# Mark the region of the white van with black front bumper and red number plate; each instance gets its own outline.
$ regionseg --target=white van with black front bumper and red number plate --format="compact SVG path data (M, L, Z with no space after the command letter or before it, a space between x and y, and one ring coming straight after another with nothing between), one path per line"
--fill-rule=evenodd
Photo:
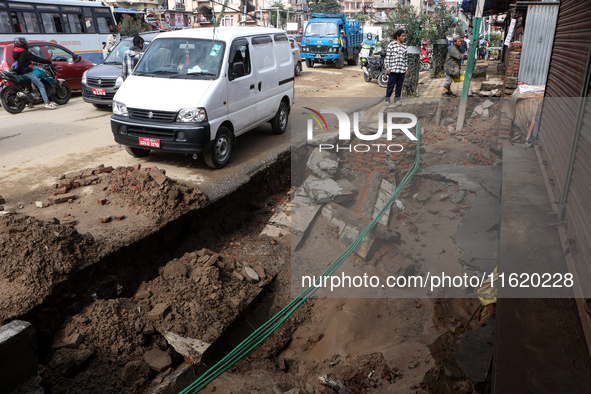
M163 33L113 98L111 131L132 156L150 150L204 153L210 167L222 168L240 134L265 122L275 134L285 132L293 70L282 30Z

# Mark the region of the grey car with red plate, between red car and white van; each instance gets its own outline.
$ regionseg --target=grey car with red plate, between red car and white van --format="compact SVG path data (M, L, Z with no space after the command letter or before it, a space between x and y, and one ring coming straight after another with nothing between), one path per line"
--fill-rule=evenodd
M144 50L160 32L141 33ZM96 108L107 108L123 83L121 68L123 54L133 46L133 37L121 40L102 62L88 70L82 76L82 99Z

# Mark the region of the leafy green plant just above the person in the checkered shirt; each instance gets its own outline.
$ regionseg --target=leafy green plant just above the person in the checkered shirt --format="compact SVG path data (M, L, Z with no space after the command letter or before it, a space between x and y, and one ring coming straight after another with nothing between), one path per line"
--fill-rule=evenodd
M406 31L406 45L420 46L425 38L425 24L427 16L417 14L413 6L404 6L402 2L396 8L386 10L385 37L389 37L398 29Z

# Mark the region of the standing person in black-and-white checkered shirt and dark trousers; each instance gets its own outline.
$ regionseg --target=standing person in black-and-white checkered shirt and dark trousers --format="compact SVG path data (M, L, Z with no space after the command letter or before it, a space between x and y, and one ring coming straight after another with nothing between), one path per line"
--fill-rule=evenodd
M392 38L393 40L388 44L386 59L384 61L386 74L388 74L385 105L390 105L390 97L392 96L392 91L394 91L394 86L396 86L394 105L399 104L404 76L408 74L406 44L404 43L406 41L406 33L404 30L399 29L394 33Z

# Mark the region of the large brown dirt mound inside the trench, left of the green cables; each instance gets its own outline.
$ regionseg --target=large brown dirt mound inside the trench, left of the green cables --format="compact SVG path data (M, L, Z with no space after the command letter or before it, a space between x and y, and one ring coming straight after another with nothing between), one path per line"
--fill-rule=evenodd
M99 299L69 318L54 338L55 351L43 375L51 392L142 392L183 358L199 361L178 354L165 336L172 332L207 344L222 336L276 274L262 265L271 267L268 263L275 263L277 254L289 254L278 243L249 246L262 252L256 259L260 265L235 260L229 251L186 253L143 283L133 298ZM246 266L257 272L259 281L245 279ZM168 361L155 363L149 355L154 351Z

